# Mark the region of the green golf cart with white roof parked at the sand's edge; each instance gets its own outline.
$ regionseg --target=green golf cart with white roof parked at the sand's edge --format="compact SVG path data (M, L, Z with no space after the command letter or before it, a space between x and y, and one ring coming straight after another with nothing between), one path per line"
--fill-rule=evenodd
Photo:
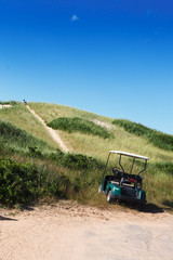
M117 154L119 155L119 167L114 167L111 169L111 176L105 177L110 155ZM121 165L122 156L133 158L129 173L124 171L124 168ZM137 174L133 174L132 170L134 169L136 159L144 160L144 169L142 169ZM141 173L146 169L148 159L148 157L141 155L130 154L121 151L110 151L103 173L103 182L99 185L98 192L105 193L108 203L111 203L115 199L120 199L145 204L146 192L142 190L142 182L144 178L141 176Z

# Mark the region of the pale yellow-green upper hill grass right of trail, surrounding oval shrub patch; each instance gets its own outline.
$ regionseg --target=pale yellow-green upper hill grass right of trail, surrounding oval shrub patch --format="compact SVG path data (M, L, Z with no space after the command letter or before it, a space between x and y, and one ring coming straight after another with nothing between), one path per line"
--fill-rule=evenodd
M159 150L148 142L148 140L129 133L120 126L112 125L114 119L111 118L56 104L29 103L29 105L46 122L58 117L81 117L89 120L96 119L109 126L109 131L115 136L110 140L103 140L98 136L90 136L84 133L58 131L71 152L91 155L105 160L108 151L121 150L146 155L154 162L173 160L173 153L171 151Z

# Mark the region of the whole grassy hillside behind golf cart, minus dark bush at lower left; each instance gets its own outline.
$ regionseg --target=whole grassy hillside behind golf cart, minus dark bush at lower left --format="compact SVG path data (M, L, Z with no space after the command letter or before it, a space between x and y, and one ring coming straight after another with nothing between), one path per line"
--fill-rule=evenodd
M169 209L173 207L172 135L147 128L148 134L157 135L156 142L152 142L149 135L136 134L137 123L133 123L131 131L128 131L121 119L116 122L115 118L56 104L28 105L44 123L54 128L69 153L66 155L64 151L61 152L61 146L41 122L27 107L16 103L0 109L1 154L16 164L35 164L38 174L44 172L42 196L43 190L46 190L46 196L53 191L55 197L104 204L105 197L97 194L103 172L101 169L108 152L119 150L149 157L144 174L147 200ZM2 131L4 128L9 130ZM141 128L145 129L144 126ZM157 145L164 140L169 140L169 146Z

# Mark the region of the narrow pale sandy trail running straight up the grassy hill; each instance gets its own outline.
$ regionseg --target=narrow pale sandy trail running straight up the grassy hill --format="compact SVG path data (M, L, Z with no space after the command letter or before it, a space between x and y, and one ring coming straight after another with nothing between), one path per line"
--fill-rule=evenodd
M36 113L35 113L35 110L32 110L28 105L26 106L28 109L29 109L29 112L41 122L41 125L45 128L45 130L50 133L50 135L51 135L51 138L59 145L59 147L64 151L64 152L69 152L69 150L67 148L67 146L64 144L64 142L62 141L62 139L61 139L61 136L58 135L58 133L54 130L54 129L52 129L52 128L50 128L50 127L48 127L46 125L45 125L45 122L42 120L42 118L41 117L39 117Z

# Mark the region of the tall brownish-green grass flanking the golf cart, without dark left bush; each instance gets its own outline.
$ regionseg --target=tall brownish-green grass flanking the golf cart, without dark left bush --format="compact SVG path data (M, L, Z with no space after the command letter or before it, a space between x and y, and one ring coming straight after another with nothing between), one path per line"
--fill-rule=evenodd
M54 198L55 200L64 198L74 199L82 204L104 205L106 197L97 194L97 188L102 181L103 165L94 164L94 168L92 165L88 167L88 162L84 165L83 162L79 162L81 156L78 157L69 154L69 159L66 159L66 156L67 155L63 154L63 159L61 160L55 158L18 158L16 156L13 156L13 159L22 162L23 167L25 165L27 166L29 161L32 167L35 165L37 178L40 176L43 178L39 198ZM84 157L83 159L85 160ZM27 164L25 161L27 161ZM111 164L114 164L114 161L111 161ZM129 164L130 161L125 162L127 168ZM171 162L148 165L144 173L144 188L147 192L147 200L149 204L155 204L164 209L172 209L171 206L168 206L172 205L173 202L172 169L173 164ZM136 170L141 170L141 165L136 166ZM38 186L35 187L36 191L37 188ZM34 202L36 199L37 196L35 196Z

